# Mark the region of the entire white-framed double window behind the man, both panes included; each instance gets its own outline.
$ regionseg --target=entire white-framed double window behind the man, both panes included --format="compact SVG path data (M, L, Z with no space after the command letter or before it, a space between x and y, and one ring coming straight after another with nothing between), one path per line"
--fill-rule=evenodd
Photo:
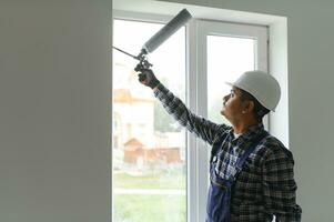
M163 26L150 16L115 14L113 46L132 54ZM266 36L265 27L194 20L149 60L192 111L227 123L220 115L230 90L224 81L246 70L266 71ZM205 221L210 150L175 124L138 82L135 64L113 51L113 221Z

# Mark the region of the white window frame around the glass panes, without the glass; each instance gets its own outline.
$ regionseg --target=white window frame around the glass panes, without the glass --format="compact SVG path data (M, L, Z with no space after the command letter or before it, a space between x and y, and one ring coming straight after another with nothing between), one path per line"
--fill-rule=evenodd
M166 23L172 17L113 10L113 19ZM186 24L186 101L195 113L208 117L206 36L256 38L256 69L267 71L267 28L264 26L229 23L192 19ZM205 43L204 43L205 42ZM144 42L143 42L144 43ZM267 120L265 125L267 128ZM188 221L202 222L206 215L210 148L192 134L186 135ZM191 151L190 151L190 149Z

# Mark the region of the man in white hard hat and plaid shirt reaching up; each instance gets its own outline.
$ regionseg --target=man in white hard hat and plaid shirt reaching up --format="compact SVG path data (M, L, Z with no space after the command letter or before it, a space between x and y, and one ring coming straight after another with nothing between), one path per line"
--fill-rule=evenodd
M206 222L270 222L273 216L276 222L301 221L293 155L262 123L281 97L272 75L250 71L229 83L232 90L221 111L232 124L227 127L192 113L152 70L135 70L181 125L212 145Z

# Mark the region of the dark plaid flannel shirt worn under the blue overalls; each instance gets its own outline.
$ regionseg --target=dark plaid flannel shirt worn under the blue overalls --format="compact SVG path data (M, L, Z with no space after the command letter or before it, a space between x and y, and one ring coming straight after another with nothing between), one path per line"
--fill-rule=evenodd
M237 158L264 131L263 124L259 123L235 139L231 127L195 115L163 84L154 90L154 97L181 125L214 148L215 170L225 179L235 171L233 165ZM292 153L276 138L265 137L235 178L231 221L267 222L273 215L276 222L301 221L302 209L295 202L293 167Z

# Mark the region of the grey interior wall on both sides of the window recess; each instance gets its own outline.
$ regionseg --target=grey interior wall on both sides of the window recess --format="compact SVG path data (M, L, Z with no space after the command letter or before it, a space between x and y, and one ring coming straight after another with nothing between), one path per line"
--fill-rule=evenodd
M287 17L298 202L303 221L333 221L334 2L178 1ZM110 221L110 9L1 0L0 221Z

